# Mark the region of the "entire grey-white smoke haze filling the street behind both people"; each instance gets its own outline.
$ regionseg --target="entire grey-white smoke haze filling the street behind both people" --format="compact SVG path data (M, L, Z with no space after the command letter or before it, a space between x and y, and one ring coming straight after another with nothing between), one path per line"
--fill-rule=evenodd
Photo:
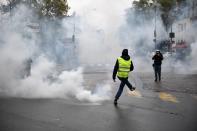
M95 90L83 86L83 69L80 65L109 64L112 70L123 48L129 49L136 72L153 70L151 52L154 48L154 20L144 21L140 26L131 22L135 17L132 11L128 11L130 2L126 0L84 0L80 1L80 4L78 2L79 0L73 0L70 5L76 11L75 20L37 21L35 14L25 6L19 6L11 18L9 15L0 16L1 93L25 98L72 96L90 102L109 100L109 83L101 83L91 88ZM35 32L27 32L29 16L42 25L44 34L41 38ZM72 36L73 27L70 23L75 23L76 26L78 47L75 54L69 53L69 49L73 48L65 48L63 40L65 36ZM61 30L55 30L57 24L61 26ZM168 36L159 17L157 28L158 38ZM44 42L41 42L41 39ZM184 64L166 58L163 62L164 71L191 73L196 70L196 49L194 42L191 55ZM69 65L75 65L70 71L56 71L57 64L68 66L66 61L73 55L76 55L80 64ZM19 74L23 62L30 57L33 59L31 76L21 79ZM53 78L55 80L51 80Z

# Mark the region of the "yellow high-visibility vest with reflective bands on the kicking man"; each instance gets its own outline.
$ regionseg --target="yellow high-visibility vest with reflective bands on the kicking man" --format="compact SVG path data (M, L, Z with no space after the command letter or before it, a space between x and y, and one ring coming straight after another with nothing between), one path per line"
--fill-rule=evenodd
M122 57L118 57L118 74L120 78L127 78L129 76L130 67L131 67L131 58L129 60L124 60Z

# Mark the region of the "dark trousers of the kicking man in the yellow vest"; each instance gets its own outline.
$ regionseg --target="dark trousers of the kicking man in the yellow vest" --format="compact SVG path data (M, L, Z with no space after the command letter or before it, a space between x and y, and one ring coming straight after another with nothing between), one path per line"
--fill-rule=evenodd
M119 87L119 89L118 89L118 92L116 93L116 96L115 96L115 99L116 99L116 100L118 100L119 97L121 96L125 84L128 86L128 88L129 88L130 90L132 89L132 85L131 85L131 83L128 81L128 78L120 78L120 77L118 77L118 79L121 81L121 83L120 83L120 87Z

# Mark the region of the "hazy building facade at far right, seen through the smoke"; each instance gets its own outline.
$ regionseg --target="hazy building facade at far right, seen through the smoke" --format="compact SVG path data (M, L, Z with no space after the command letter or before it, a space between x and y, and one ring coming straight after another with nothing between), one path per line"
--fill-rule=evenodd
M175 32L172 50L186 55L190 52L190 45L196 42L197 1L188 0L184 5L177 5L177 19L173 23Z

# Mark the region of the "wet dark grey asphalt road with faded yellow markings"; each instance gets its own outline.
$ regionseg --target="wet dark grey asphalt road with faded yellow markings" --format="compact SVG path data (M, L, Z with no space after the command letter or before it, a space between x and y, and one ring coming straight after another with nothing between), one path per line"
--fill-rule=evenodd
M108 82L111 74L86 72L85 85ZM197 131L197 75L134 73L135 92L126 88L118 106L72 99L0 98L0 131Z

